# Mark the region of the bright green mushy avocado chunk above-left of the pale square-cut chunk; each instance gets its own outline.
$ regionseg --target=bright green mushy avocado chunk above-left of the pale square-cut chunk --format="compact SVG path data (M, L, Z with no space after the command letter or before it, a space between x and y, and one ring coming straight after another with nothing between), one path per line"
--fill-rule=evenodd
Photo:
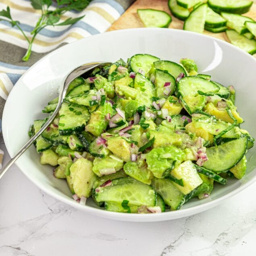
M162 178L165 171L171 170L174 164L179 165L183 160L185 160L183 150L173 146L154 148L146 154L148 169L156 178Z

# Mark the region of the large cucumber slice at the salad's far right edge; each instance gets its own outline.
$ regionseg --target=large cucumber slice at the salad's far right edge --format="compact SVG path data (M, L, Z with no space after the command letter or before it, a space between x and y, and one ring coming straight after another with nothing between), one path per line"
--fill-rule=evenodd
M206 148L208 161L203 167L216 173L223 173L234 167L247 150L247 137L234 139L219 146Z

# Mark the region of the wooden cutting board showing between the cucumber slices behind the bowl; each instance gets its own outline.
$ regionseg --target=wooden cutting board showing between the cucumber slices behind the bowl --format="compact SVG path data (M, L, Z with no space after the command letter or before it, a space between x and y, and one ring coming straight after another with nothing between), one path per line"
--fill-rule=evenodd
M171 15L171 12L168 8L167 3L168 3L168 0L137 0L130 6L130 8L126 10L126 12L116 22L112 24L112 26L108 29L108 31L117 30L117 29L135 28L135 27L144 27L142 21L140 21L137 15L137 9L139 8L142 8L142 9L153 8L157 10L164 10ZM252 5L250 12L247 12L244 15L256 21L256 0L254 0L254 4ZM169 25L169 28L183 29L184 22L173 17L173 15L171 16L172 16L172 22ZM211 35L215 38L219 38L221 40L229 42L225 32L212 33L205 30L204 34ZM256 56L256 54L254 54L254 56Z

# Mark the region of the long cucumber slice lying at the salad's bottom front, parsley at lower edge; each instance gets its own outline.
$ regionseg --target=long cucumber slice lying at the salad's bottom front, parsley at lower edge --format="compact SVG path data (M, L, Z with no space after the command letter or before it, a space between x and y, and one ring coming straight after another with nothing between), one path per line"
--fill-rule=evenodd
M97 202L117 202L129 201L132 205L156 205L156 192L153 187L136 181L131 177L114 179L107 187L97 187L95 189L95 199Z

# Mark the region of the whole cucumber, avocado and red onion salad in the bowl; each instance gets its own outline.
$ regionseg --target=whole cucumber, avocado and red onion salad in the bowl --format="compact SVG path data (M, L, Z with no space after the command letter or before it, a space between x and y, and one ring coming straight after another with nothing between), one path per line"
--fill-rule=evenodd
M158 213L245 175L254 138L241 123L232 85L198 74L187 58L135 54L74 79L35 147L80 204L92 197L108 211Z

